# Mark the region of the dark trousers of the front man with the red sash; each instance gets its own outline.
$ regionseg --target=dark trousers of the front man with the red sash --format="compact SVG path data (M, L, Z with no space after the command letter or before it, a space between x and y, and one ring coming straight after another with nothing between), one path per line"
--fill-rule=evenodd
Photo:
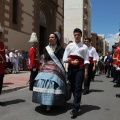
M73 109L80 109L80 102L82 97L82 84L84 79L84 66L82 67L68 67L68 80L71 84L71 89L73 92Z

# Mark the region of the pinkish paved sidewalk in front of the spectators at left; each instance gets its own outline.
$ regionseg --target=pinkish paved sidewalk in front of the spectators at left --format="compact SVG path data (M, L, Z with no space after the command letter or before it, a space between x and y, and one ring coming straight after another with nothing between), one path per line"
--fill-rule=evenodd
M29 77L30 71L20 71L18 74L5 74L2 93L27 87Z

